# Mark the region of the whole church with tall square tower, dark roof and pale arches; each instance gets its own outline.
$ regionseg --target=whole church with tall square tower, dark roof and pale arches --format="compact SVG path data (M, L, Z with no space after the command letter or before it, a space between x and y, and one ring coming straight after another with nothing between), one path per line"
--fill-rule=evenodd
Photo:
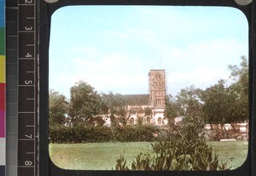
M166 108L165 70L150 70L148 72L148 94L125 94L122 97L128 112L127 125L141 123L162 126L168 123L164 116ZM110 126L110 118L104 119L106 125Z

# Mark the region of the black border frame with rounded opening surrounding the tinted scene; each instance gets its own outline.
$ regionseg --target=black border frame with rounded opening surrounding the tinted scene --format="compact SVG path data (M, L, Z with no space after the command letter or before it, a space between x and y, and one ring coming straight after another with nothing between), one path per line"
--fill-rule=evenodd
M38 174L40 176L253 176L256 175L256 0L247 6L241 6L234 0L59 0L58 3L38 1L38 114L39 114L39 154ZM164 6L216 6L240 9L246 16L249 25L249 145L247 161L231 171L81 171L66 170L56 167L49 158L48 141L48 92L49 92L49 33L51 14L56 9L69 5L164 5Z

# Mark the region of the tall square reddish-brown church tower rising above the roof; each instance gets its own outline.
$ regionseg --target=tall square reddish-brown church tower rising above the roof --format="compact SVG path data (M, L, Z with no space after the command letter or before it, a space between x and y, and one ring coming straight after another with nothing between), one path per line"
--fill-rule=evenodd
M150 70L148 73L149 103L155 109L166 108L165 70Z

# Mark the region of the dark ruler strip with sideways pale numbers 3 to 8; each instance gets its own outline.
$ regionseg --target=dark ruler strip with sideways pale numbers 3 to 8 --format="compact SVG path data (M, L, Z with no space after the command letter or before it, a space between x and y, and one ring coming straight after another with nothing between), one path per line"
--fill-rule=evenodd
M18 176L38 175L37 4L18 2Z

